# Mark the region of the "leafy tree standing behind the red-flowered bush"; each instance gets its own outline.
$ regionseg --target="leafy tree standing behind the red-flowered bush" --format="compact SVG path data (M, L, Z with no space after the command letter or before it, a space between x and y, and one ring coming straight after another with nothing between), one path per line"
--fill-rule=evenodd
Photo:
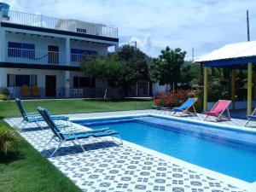
M150 75L153 81L161 81L168 85L168 90L172 84L177 85L181 81L181 67L184 63L186 51L182 49L161 50L158 58L154 58L154 65L150 67Z

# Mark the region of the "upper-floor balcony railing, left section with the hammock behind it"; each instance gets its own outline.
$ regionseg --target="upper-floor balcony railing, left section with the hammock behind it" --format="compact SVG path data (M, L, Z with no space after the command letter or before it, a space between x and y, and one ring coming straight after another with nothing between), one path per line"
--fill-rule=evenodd
M66 64L66 53L48 50L8 48L7 61L53 65Z

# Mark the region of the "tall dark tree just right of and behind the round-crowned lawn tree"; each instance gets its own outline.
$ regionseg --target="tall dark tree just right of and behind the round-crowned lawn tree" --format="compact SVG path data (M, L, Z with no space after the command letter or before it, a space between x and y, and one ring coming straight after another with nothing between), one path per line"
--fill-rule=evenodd
M126 66L122 82L124 95L128 94L131 84L136 83L138 80L149 80L148 63L150 58L143 51L131 45L124 45L119 48L117 57Z

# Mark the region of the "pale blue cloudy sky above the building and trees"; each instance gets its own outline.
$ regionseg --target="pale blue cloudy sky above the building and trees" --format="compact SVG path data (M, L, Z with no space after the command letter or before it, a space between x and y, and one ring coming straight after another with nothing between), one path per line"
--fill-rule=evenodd
M256 40L256 0L7 0L10 9L119 29L119 45L137 41L147 55L169 46L186 50L186 60L225 44Z

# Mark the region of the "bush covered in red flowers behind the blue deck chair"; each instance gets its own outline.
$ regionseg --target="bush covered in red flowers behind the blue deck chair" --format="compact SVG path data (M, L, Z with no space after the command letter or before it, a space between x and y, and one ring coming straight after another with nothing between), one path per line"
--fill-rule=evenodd
M180 106L189 97L198 98L198 94L193 90L171 91L167 94L159 94L158 96L155 96L154 104L158 107L175 108ZM197 102L195 102L195 109L197 112L201 112L202 110L200 98L198 98Z

